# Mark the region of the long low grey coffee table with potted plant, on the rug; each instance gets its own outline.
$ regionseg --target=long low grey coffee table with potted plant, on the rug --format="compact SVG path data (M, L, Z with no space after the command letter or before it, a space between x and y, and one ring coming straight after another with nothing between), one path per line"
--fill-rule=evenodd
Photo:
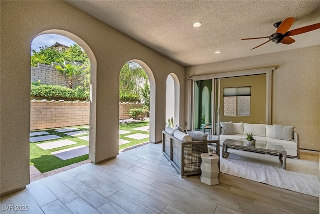
M265 141L258 140L255 141L255 145L246 145L245 141L226 139L222 143L222 157L224 157L228 148L242 149L245 151L254 151L265 154L278 154L279 162L281 163L282 168L285 169L286 151L280 145L266 144Z

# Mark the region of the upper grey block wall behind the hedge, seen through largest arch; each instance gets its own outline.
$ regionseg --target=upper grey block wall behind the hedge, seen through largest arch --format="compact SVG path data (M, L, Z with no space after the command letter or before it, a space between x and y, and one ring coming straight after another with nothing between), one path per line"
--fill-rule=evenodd
M38 67L31 67L31 82L40 80L41 84L59 85L69 87L69 82L65 75L60 74L52 65L38 64ZM73 88L81 85L79 76L73 78Z

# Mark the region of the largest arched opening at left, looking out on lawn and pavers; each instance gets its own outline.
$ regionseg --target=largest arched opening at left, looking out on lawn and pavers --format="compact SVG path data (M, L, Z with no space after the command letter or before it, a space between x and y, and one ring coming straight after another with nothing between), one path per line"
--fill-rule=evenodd
M95 105L96 105L95 104L95 94L96 94L95 93L96 91L95 57L92 51L90 50L90 48L88 47L88 45L83 40L66 31L62 31L62 30L43 31L38 35L36 35L36 37L34 37L33 40L39 36L40 37L46 36L47 34L63 36L65 38L68 38L69 41L73 41L74 44L76 44L74 45L74 47L73 46L68 47L67 45L70 45L70 43L66 45L55 43L50 48L51 50L54 50L55 53L58 53L58 52L64 53L65 48L70 49L71 47L71 49L74 48L74 49L77 49L77 51L81 50L82 52L84 52L88 60L87 60L87 63L81 62L83 66L81 66L81 64L78 64L78 63L67 63L67 62L64 62L61 64L58 64L58 63L52 64L47 66L43 65L43 68L37 67L35 69L32 69L32 66L31 66L31 84L32 82L35 82L33 84L42 85L43 87L45 86L52 91L56 90L55 88L57 87L61 87L61 85L69 86L69 87L64 87L65 88L65 91L63 89L64 94L73 90L71 92L71 94L73 94L72 96L70 94L66 96L66 97L70 96L69 99L67 99L66 97L57 99L54 97L53 99L45 99L46 101L44 99L42 100L34 99L33 102L31 101L30 129L36 130L36 131L32 131L30 133L30 144L31 144L30 145L30 163L33 163L36 168L41 167L41 170L38 168L40 172L50 171L56 168L60 168L72 163L76 163L76 162L88 159L88 158L91 160L91 159L94 159L94 155L95 155L95 152L93 150L94 144L95 144L94 121L95 121ZM34 47L32 47L32 49L33 48ZM45 49L45 47L43 49ZM71 52L72 51L70 51L70 53ZM75 52L72 52L71 55L74 54ZM83 71L86 68L86 70L89 71L87 73L87 78L89 79L89 82L86 82L87 85L84 86L83 82L78 80L79 76L77 77L77 79L61 78L61 76L64 76L63 74L65 74L65 72L61 71L62 74L60 74L59 76L59 73L57 72L57 68L56 68L58 65L60 65L61 69L65 69L66 67L70 69L73 66L73 72L75 73L78 73L79 71ZM82 67L81 70L79 70L79 67ZM41 71L42 71L42 74L38 75ZM85 87L87 87L86 95L82 96L83 93L85 93L84 92ZM77 94L74 94L74 93L77 93ZM31 94L32 94L32 86L31 86ZM52 94L48 94L46 96L50 97L52 96ZM83 99L81 100L81 98ZM36 104L40 104L40 105L36 106ZM39 108L43 106L45 107L42 109ZM68 112L65 112L66 109L68 110ZM40 115L38 114L39 111L41 111ZM40 123L40 125L37 126L36 124L33 124L32 121L36 121L36 123ZM88 124L90 124L90 126L88 126ZM70 128L71 126L72 128ZM74 126L77 126L77 127L75 128ZM38 130L40 133L36 133L38 132ZM88 135L88 133L90 133L90 135ZM44 140L42 140L41 137L43 137ZM32 151L32 148L36 148L36 149ZM72 150L74 150L73 154L72 154Z

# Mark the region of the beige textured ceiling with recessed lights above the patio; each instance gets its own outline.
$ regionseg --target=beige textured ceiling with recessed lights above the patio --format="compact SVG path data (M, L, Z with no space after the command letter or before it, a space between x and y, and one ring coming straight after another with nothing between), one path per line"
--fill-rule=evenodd
M66 1L181 65L198 65L320 44L320 29L293 36L291 45L268 39L272 25L294 17L290 30L320 23L320 1ZM202 26L193 28L194 22ZM215 51L221 51L215 54Z

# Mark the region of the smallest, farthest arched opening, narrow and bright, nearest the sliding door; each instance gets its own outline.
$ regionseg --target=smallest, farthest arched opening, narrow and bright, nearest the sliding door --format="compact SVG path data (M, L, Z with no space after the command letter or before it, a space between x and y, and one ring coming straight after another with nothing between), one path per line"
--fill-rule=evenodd
M165 90L165 118L173 118L174 125L179 124L179 107L180 107L180 83L177 76L173 73L166 78Z

